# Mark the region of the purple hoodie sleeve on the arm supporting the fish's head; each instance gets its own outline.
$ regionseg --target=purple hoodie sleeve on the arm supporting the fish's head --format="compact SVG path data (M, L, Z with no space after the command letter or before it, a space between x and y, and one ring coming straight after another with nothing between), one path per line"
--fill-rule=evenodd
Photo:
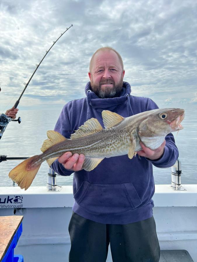
M156 103L148 98L147 105L146 105L146 111L157 109L158 106ZM157 159L157 160L150 160L149 158L146 158L146 160L150 161L155 167L160 168L166 168L166 167L172 167L175 162L177 161L177 158L179 157L179 151L177 146L175 145L175 139L172 133L167 134L165 137L165 147L164 147L164 153L163 155Z

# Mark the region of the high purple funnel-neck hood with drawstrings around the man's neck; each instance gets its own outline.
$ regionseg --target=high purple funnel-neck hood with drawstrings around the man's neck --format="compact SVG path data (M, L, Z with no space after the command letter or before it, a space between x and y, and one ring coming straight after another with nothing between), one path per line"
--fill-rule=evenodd
M124 107L124 116L123 117L128 117L128 116L133 115L133 111L130 105L131 86L128 82L123 82L123 87L122 87L121 94L119 97L99 98L91 90L90 82L86 84L85 93L87 96L87 104L88 104L87 120L91 118L92 110L96 110L98 112L102 112L103 110L117 112L117 111L120 111L119 109L123 107L123 105L125 104L127 104L128 110L125 116L125 107ZM120 112L118 114L120 114Z

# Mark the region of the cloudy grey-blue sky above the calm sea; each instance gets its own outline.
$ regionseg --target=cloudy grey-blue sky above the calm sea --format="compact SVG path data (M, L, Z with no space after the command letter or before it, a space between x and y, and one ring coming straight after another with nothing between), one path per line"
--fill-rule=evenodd
M85 97L89 62L100 47L122 56L131 94L159 107L197 105L197 1L0 1L0 113L39 66L19 109L63 107Z

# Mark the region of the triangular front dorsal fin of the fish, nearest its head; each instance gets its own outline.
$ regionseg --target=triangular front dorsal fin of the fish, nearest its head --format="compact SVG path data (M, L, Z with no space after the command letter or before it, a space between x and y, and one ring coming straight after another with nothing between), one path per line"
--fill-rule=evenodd
M103 118L103 123L106 129L111 128L114 125L119 124L120 122L123 121L124 117L108 111L108 110L103 110L102 111L102 118Z

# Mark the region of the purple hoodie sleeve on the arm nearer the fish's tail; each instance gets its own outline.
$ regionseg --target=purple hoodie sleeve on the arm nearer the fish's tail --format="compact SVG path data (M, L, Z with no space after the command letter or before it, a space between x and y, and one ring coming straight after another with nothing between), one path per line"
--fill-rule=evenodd
M70 138L71 135L71 124L69 115L71 114L72 102L68 102L64 105L60 116L57 120L54 130L62 134L66 138ZM50 166L55 173L61 176L70 176L74 171L65 169L64 166L56 159Z

